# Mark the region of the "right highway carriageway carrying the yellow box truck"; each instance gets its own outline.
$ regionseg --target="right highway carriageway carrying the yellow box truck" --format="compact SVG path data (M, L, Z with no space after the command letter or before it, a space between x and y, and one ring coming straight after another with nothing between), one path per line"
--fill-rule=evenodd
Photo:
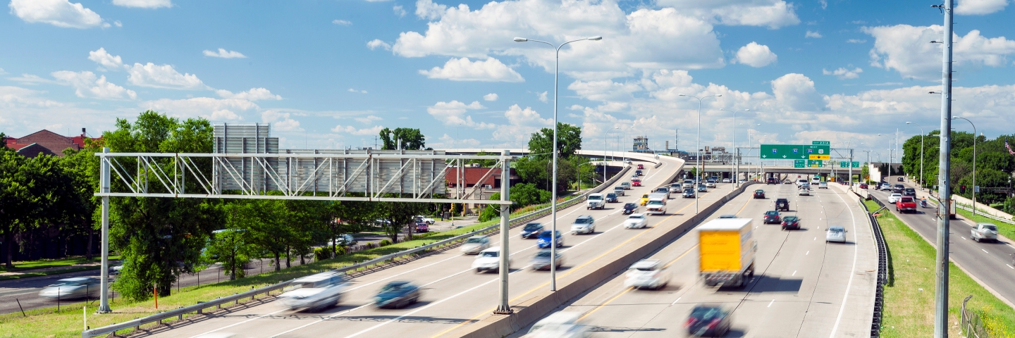
M664 289L625 288L624 274L618 273L562 311L583 313L597 337L686 336L684 321L698 303L733 310L731 337L870 335L877 253L855 195L838 187L815 189L813 196L797 196L795 185L756 187L766 190L766 199L742 194L707 219L722 214L754 219L757 270L746 287L708 287L698 280L697 234L689 231L649 257L667 264L673 276ZM780 197L790 199L791 211L783 215L799 216L801 230L761 222ZM818 241L829 225L847 228L847 244Z

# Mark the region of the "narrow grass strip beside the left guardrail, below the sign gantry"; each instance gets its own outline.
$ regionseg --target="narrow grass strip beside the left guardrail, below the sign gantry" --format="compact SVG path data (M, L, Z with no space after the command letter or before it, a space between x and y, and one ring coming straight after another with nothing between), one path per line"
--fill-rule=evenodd
M334 259L294 266L281 271L265 272L263 274L241 278L238 280L204 284L200 287L184 287L180 292L159 297L158 310L166 311L180 307L192 306L198 301L231 295L233 293L250 290L251 288L267 286L292 278L302 277L315 272L349 266L355 264L356 262L362 262L384 255L394 254L403 250L427 245L433 242L447 240L462 233L496 224L498 222L499 219L493 219L458 229L435 232L434 234L421 240L408 241L387 247L355 252L348 255L342 255ZM110 307L113 308L114 313L92 315L97 309L97 300L93 300L89 301L87 305L88 326L92 328L103 327L114 323L123 323L135 318L141 318L156 313L152 299L132 301L117 297L110 301ZM82 328L81 307L83 306L85 306L83 302L64 305L61 306L59 312L57 312L56 308L29 310L24 312L26 317L22 317L20 312L0 315L0 337L80 337ZM124 334L129 331L131 330L124 330L118 333Z

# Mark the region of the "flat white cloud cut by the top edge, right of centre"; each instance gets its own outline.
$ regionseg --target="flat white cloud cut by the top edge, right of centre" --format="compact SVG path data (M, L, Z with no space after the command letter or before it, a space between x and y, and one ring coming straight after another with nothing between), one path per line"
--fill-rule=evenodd
M718 24L779 28L800 23L793 4L783 0L656 0L656 3Z

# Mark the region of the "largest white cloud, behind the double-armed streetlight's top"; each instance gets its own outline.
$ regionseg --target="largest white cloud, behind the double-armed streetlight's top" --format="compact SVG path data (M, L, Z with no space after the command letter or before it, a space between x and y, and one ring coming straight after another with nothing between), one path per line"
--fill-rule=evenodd
M418 6L420 3L425 6ZM560 58L570 60L561 64L561 71L583 79L603 79L631 75L641 68L725 65L712 24L673 8L644 8L628 14L612 0L505 0L486 3L476 10L464 4L447 8L434 5L434 9L431 4L421 0L417 11L434 21L423 33L400 33L392 47L396 55L474 59L520 56L529 64L552 71L554 56L546 46L512 40L525 37L560 43L601 35L605 37L602 41L582 41L561 49Z

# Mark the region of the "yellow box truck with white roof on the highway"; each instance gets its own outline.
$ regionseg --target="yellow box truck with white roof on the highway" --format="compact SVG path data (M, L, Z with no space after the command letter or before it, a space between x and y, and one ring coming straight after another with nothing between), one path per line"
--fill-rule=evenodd
M754 276L751 218L713 219L698 227L698 267L705 285L743 287Z

